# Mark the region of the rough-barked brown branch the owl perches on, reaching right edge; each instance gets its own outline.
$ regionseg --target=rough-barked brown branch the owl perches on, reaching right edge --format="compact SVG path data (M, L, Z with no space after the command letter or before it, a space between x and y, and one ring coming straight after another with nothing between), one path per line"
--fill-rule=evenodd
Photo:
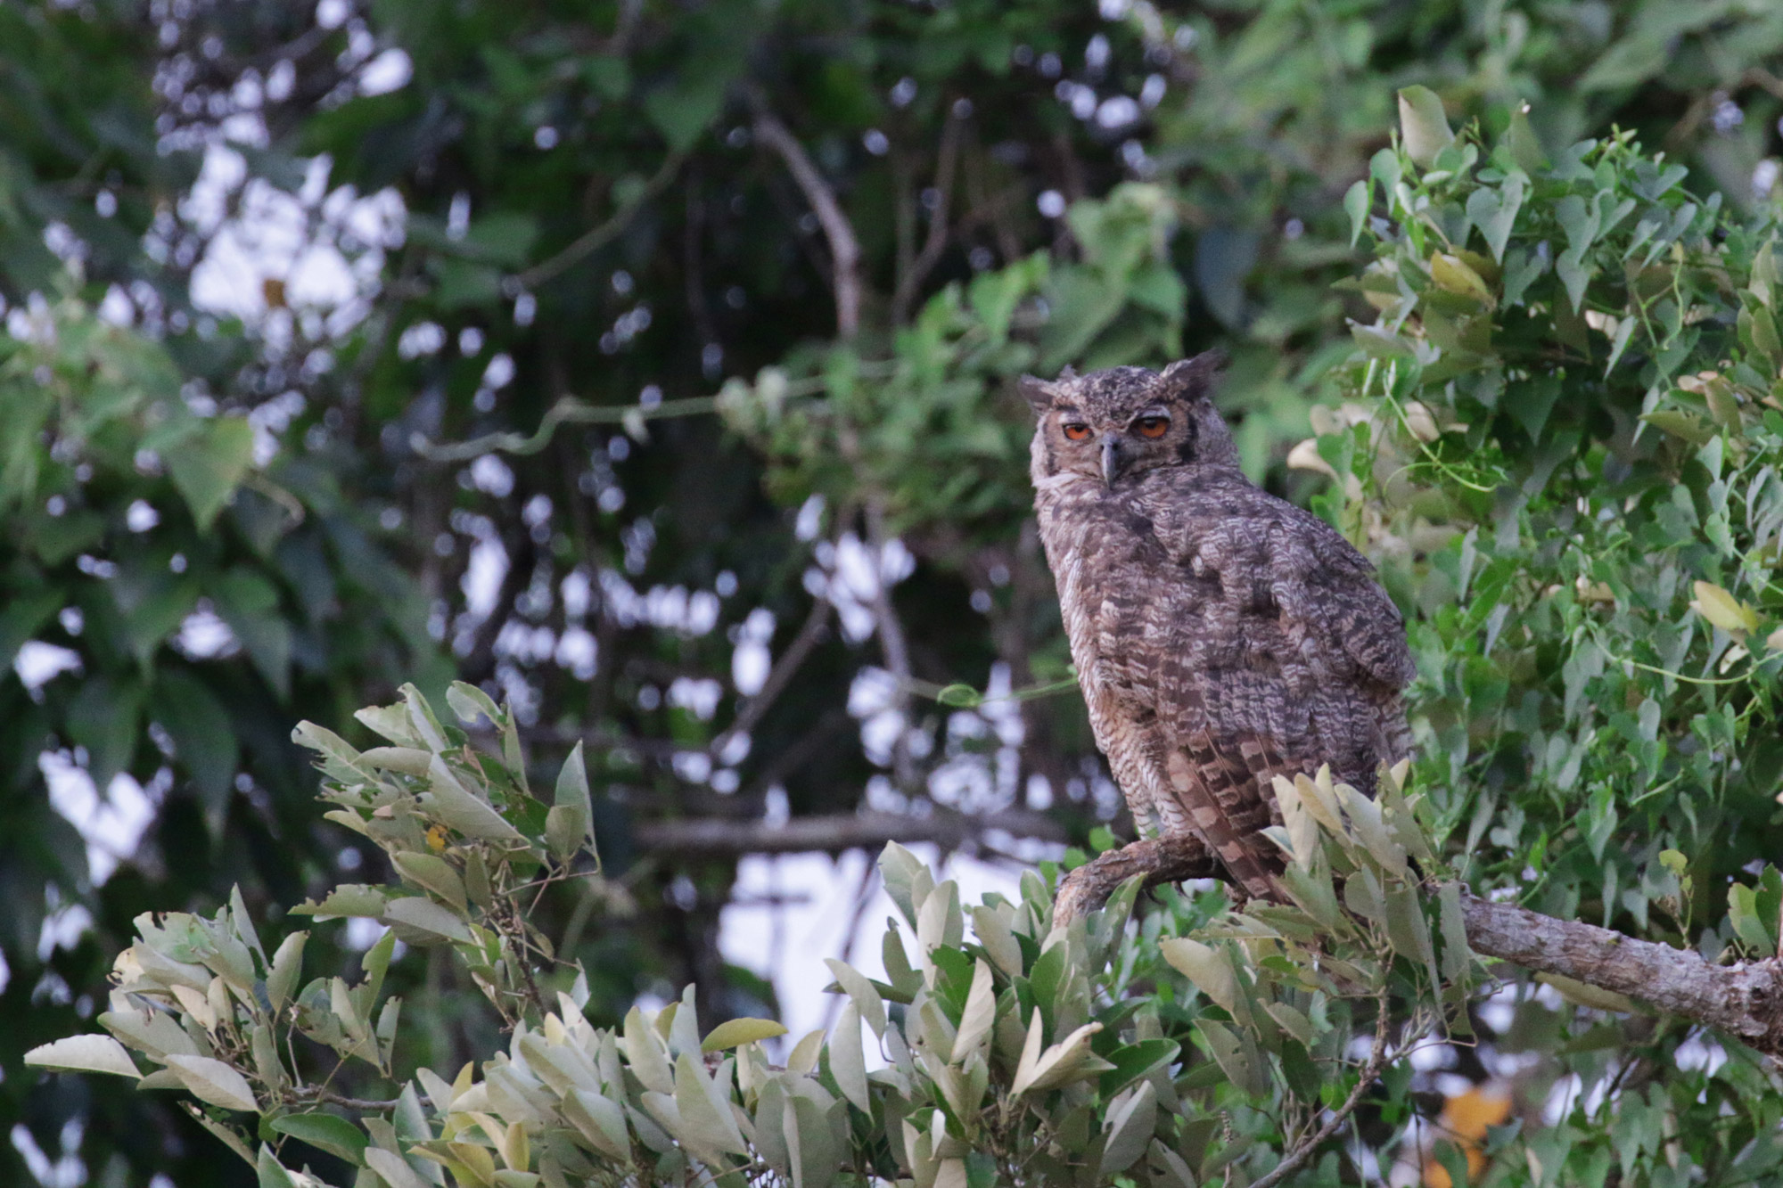
M1066 876L1056 899L1056 919L1100 908L1134 874L1143 874L1145 885L1155 887L1218 876L1218 863L1193 837L1134 842ZM1776 958L1710 965L1694 949L1672 949L1594 924L1558 920L1517 904L1480 899L1467 888L1462 888L1460 904L1467 945L1480 956L1614 990L1726 1031L1762 1052L1783 1056L1783 961Z

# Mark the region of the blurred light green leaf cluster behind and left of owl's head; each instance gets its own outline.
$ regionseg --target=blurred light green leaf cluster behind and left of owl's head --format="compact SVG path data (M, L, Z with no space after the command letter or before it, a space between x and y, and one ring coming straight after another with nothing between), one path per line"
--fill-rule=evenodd
M892 530L934 551L952 533L1004 539L1032 503L1032 419L1015 378L1180 355L1171 223L1159 187L1123 184L1072 209L1082 260L1048 268L1034 255L954 282L899 332L890 359L849 344L801 351L754 385L731 380L720 410L768 458L781 499L877 499Z

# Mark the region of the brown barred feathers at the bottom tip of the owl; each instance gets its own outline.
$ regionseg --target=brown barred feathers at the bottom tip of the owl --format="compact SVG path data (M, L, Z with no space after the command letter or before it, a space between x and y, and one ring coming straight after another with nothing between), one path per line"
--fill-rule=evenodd
M1275 824L1275 776L1291 780L1300 771L1259 735L1216 738L1198 730L1170 753L1170 790L1177 804L1248 895L1287 899L1277 881L1282 853L1262 831Z

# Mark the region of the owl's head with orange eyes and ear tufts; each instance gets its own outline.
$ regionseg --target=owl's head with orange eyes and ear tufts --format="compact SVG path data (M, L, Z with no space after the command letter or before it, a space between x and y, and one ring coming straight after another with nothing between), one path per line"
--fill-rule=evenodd
M1034 407L1036 476L1082 474L1109 489L1166 466L1237 466L1232 433L1214 408L1225 357L1205 351L1159 371L1109 367L1057 380L1022 378Z

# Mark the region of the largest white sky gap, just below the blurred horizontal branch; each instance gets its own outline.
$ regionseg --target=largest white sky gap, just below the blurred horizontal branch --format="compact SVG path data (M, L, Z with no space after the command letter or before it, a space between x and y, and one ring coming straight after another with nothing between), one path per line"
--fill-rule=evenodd
M934 846L911 846L911 851L931 867L938 862ZM840 858L827 854L747 854L736 863L733 899L719 917L719 951L726 961L751 969L774 981L779 997L779 1019L788 1035L777 1040L788 1047L808 1031L829 1026L842 1010L838 995L824 994L831 983L824 958L842 958L849 951L856 895L861 876L872 858L850 851ZM954 854L936 872L938 879L959 883L959 901L968 910L979 904L986 892L1000 892L1020 899L1020 870L977 858ZM859 913L859 931L854 938L854 969L868 978L884 979L884 961L879 938L886 917L897 915L892 897L872 876L870 899ZM765 897L799 899L799 903L751 903ZM915 933L900 920L906 953L915 963ZM865 1033L867 1067L883 1067L884 1056L874 1035Z

